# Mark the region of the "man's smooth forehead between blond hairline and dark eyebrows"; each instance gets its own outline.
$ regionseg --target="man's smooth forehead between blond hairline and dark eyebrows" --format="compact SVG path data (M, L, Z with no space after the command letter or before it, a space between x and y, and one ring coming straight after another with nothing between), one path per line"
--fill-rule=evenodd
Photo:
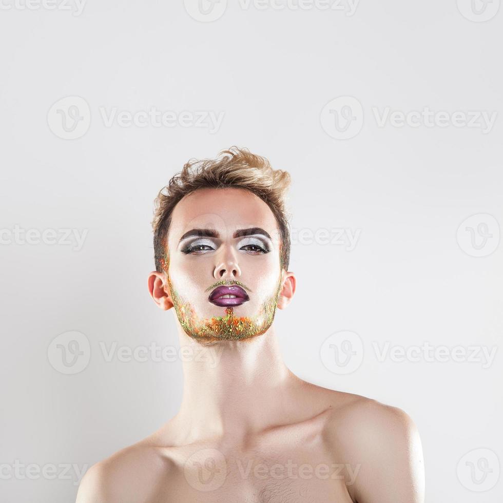
M168 240L178 240L194 228L215 229L231 237L237 229L261 227L279 240L276 218L269 206L249 190L203 188L185 196L173 209Z

